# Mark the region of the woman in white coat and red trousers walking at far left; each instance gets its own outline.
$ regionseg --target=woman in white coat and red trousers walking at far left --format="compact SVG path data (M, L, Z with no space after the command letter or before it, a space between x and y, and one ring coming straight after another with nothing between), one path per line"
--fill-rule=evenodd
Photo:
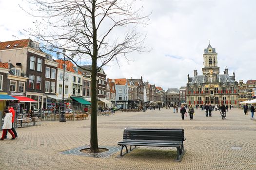
M5 113L5 117L4 117L4 121L3 121L3 126L2 126L2 137L0 138L0 140L3 140L4 136L6 135L6 132L8 130L8 132L13 136L11 139L15 139L15 135L13 133L12 129L12 113L9 112L8 109L4 110Z

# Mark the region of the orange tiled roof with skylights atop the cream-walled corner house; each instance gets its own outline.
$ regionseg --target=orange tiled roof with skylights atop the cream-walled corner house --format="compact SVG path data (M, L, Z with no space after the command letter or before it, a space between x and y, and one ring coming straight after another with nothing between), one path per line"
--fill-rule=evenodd
M0 42L0 50L18 49L29 46L30 39ZM16 46L15 46L16 45Z

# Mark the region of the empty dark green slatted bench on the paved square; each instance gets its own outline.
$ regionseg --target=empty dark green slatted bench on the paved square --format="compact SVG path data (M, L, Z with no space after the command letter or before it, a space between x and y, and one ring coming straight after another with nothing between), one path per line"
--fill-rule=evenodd
M123 141L118 142L121 146L120 156L123 156L122 150L125 147L128 153L127 145L130 146L153 146L153 147L176 147L177 160L181 160L184 154L184 129L145 129L145 128L125 128L123 131ZM126 154L125 153L125 154Z

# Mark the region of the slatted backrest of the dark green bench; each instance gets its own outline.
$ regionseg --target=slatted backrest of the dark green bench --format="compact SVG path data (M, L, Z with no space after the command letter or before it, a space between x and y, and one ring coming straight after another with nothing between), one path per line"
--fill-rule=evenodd
M123 140L184 141L184 129L125 128Z

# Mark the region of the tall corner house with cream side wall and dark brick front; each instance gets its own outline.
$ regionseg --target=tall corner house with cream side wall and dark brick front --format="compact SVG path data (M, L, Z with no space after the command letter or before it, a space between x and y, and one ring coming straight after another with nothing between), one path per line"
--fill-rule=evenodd
M28 77L26 96L37 101L30 103L29 108L39 109L43 104L45 56L39 43L31 39L0 42L1 61L18 65L21 73Z

